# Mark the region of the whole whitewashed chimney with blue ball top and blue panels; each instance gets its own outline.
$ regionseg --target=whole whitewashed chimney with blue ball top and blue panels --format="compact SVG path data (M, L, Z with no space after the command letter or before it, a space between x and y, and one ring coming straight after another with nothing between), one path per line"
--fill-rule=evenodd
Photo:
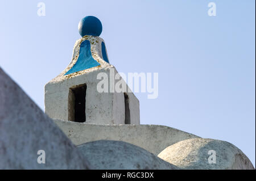
M94 16L80 21L82 38L75 43L72 61L44 87L45 111L52 119L138 125L139 100L122 78L115 79L119 74L109 63L101 31L101 22ZM114 89L118 82L125 85L121 92Z

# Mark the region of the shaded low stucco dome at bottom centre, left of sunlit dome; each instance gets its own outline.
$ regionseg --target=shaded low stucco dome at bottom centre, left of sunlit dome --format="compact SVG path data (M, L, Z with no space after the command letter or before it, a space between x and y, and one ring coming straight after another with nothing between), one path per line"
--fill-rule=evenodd
M94 169L100 170L176 170L176 166L156 155L123 141L100 140L77 147Z

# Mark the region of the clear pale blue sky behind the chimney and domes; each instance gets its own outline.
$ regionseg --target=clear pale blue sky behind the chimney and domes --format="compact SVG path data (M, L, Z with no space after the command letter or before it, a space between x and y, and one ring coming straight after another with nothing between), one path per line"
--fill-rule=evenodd
M86 15L109 61L158 72L158 99L136 93L142 124L231 142L255 166L255 1L0 1L0 66L44 110L44 85L71 61ZM217 16L208 16L215 2ZM168 139L168 138L166 138Z

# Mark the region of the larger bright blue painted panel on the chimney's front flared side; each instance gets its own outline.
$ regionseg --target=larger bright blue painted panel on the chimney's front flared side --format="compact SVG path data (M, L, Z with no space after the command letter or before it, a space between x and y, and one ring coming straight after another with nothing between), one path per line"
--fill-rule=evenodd
M65 75L85 69L90 69L98 65L100 64L94 60L92 53L90 52L90 41L85 40L82 41L80 45L79 57L77 58L76 64L73 65L73 67L67 73L65 73Z

